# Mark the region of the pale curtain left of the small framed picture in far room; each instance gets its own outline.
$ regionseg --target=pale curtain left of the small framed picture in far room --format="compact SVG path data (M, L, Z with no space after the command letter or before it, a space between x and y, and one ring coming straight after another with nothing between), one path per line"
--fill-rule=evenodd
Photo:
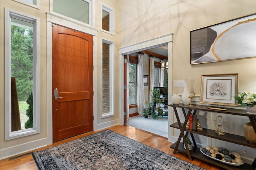
M137 74L137 106L138 106L138 113L142 115L143 111L143 103L145 102L144 97L144 82L143 82L143 57L142 55L138 55L138 74Z

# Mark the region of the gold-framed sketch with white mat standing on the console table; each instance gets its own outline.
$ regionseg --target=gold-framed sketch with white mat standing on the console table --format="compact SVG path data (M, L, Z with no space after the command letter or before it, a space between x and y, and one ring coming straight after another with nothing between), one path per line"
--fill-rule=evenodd
M200 103L238 106L238 73L202 75Z

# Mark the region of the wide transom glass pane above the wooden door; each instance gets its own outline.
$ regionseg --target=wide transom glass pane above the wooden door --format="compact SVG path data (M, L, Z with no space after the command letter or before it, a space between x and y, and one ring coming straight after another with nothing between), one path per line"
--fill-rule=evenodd
M89 24L89 3L84 0L53 0L53 11Z

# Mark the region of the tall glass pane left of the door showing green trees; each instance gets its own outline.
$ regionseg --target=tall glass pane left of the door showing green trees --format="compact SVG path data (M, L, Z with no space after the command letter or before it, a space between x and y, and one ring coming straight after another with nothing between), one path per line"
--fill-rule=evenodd
M33 125L33 24L11 18L12 131Z

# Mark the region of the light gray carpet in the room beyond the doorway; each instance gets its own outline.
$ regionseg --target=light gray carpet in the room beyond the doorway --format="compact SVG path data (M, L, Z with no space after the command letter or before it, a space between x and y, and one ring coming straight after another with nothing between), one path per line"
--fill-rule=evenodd
M163 137L168 138L168 117L163 116L158 119L144 116L134 116L127 120L126 125L142 129Z

